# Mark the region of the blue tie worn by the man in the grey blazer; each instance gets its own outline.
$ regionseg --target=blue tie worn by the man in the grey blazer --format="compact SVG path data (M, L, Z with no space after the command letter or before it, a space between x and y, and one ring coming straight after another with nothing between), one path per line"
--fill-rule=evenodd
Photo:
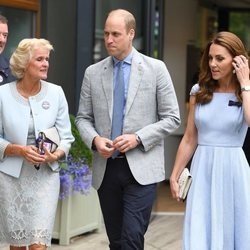
M114 140L117 136L122 134L123 127L123 112L125 105L125 85L123 75L123 62L117 63L117 74L115 79L114 97L113 97L113 118L111 139ZM114 152L112 158L118 155L118 151Z

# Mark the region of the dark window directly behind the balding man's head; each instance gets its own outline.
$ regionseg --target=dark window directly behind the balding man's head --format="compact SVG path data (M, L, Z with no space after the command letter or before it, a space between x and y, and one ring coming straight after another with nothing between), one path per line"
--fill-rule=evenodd
M103 41L103 28L107 14L114 9L126 9L136 19L136 36L133 46L140 52L155 58L162 57L163 0L105 0L95 1L94 62L107 56Z

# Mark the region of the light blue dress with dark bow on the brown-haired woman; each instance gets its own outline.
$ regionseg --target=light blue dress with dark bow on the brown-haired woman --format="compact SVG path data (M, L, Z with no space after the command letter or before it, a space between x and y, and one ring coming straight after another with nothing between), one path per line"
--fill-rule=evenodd
M194 85L191 94L198 88ZM214 93L210 103L196 106L198 147L191 164L184 250L250 249L250 168L242 150L248 126L237 103L234 93Z

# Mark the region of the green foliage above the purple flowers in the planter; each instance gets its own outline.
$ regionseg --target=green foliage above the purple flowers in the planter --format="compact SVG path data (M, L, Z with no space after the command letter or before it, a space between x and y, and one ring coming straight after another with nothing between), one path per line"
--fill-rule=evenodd
M72 155L74 160L85 160L85 164L88 166L92 165L92 152L83 142L80 133L75 125L75 117L70 114L70 122L71 122L71 131L73 136L75 137L75 141L73 142L69 154Z

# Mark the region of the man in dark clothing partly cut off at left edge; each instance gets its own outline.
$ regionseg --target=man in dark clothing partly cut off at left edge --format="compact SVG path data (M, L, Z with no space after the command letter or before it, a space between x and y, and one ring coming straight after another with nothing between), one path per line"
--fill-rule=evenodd
M8 20L0 15L0 85L15 80L9 68L9 60L3 56L8 34Z

